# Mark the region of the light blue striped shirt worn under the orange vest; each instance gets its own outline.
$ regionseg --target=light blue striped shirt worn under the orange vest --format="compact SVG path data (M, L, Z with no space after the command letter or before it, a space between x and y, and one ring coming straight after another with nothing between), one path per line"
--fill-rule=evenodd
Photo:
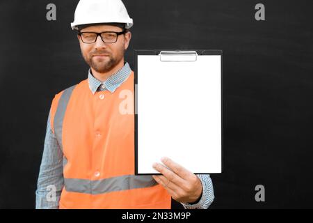
M100 82L93 77L88 70L88 84L90 91L110 91L113 93L131 74L129 63L111 75L105 82ZM58 201L64 185L63 178L63 152L58 144L50 125L50 112L47 121L45 144L40 164L36 195L36 206L38 209L58 208ZM198 174L202 183L202 196L198 203L182 203L186 209L207 209L214 200L214 190L209 174Z

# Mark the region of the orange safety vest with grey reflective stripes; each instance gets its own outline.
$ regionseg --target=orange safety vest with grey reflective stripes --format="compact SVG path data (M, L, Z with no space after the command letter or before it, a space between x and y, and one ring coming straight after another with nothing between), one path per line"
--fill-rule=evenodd
M120 112L127 92L134 95L133 71L114 93L93 95L85 79L56 94L50 121L63 151L60 208L171 208L152 176L134 175L134 112Z

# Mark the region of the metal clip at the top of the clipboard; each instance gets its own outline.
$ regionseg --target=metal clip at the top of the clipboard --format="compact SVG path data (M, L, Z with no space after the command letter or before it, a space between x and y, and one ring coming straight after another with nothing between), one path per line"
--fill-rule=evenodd
M161 51L159 56L162 62L194 62L198 54L195 51Z

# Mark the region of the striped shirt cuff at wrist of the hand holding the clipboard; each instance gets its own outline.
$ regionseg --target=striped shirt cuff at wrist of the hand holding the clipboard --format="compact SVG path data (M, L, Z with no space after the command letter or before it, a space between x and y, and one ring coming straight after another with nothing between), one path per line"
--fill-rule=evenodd
M185 209L207 209L214 201L214 190L209 174L197 174L202 183L202 197L198 203L182 203Z

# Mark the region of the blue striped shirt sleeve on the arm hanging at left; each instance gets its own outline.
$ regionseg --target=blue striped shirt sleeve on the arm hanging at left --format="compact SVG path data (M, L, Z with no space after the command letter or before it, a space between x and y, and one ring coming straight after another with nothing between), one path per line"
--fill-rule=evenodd
M57 209L64 185L63 153L50 125L51 109L47 121L45 146L35 192L36 209Z

